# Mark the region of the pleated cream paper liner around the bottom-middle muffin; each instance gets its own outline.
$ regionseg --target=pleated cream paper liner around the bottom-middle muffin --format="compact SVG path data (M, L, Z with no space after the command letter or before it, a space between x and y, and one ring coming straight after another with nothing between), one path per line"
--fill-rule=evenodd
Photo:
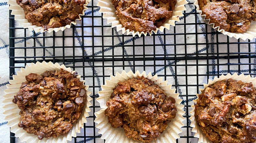
M160 134L156 140L152 140L151 143L176 143L176 139L180 138L179 133L182 132L181 127L184 126L182 121L185 120L185 118L182 116L185 113L182 111L184 105L181 105L182 100L178 99L179 93L175 93L176 89L171 89L172 85L167 85L167 81L162 81L162 77L158 78L157 74L152 76L151 72L146 75L145 71L142 73L139 73L139 71L136 71L136 73L133 73L132 71L126 73L125 71L122 71L121 74L117 72L116 76L111 75L110 80L106 80L105 85L101 85L102 90L98 92L99 97L96 100L100 103L100 108L102 109L95 113L96 119L94 120L97 123L96 128L99 129L98 133L102 134L101 139L105 139L106 143L141 143L141 141L136 141L125 136L123 128L111 127L111 124L108 123L107 116L104 114L104 111L107 109L106 103L117 83L137 76L143 76L153 81L156 85L164 90L168 97L171 96L175 98L175 106L177 108L176 117L172 119L170 123L168 123L168 127L164 130L164 132Z

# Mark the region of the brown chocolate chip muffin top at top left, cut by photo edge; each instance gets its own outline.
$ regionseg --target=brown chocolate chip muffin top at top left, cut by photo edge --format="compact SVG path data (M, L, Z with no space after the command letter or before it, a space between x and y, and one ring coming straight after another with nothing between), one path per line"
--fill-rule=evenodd
M48 28L66 26L82 14L86 0L16 0L33 25Z

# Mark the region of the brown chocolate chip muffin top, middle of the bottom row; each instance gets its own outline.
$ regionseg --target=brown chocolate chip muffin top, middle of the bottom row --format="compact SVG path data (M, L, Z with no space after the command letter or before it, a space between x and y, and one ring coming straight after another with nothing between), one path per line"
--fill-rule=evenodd
M105 115L113 128L124 128L134 140L156 139L175 118L175 99L144 77L119 82L107 101Z

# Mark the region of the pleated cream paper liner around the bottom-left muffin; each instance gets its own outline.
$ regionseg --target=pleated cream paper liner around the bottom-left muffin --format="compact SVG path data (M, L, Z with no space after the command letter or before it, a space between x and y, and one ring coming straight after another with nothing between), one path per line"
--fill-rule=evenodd
M20 128L18 126L19 119L20 119L20 109L16 104L12 102L13 96L17 94L17 92L20 89L21 83L26 81L25 76L29 73L38 73L41 74L44 71L51 71L51 70L58 70L64 69L65 71L74 73L75 71L72 71L71 68L66 68L64 65L59 65L58 63L53 64L52 62L45 62L42 63L36 62L36 64L32 63L31 66L26 65L26 68L21 68L21 71L17 71L17 75L13 75L13 80L10 80L10 84L7 85L7 89L4 91L6 95L4 95L4 101L5 104L3 109L5 120L8 121L8 126L11 127L11 132L15 133L15 137L19 137L20 140L27 141L27 143L33 142L33 143L66 143L67 140L71 141L72 136L76 137L76 133L80 133L80 128L83 128L83 123L86 123L86 117L89 116L90 106L92 105L90 101L92 98L89 96L91 94L90 91L88 91L89 86L85 86L86 90L86 103L84 106L84 109L82 111L82 114L80 118L73 124L73 127L66 135L60 135L56 138L50 137L50 138L43 138L42 140L39 140L36 135L34 134L28 134L25 130ZM80 79L81 82L85 82L85 80L81 79L81 75L78 75L77 78Z

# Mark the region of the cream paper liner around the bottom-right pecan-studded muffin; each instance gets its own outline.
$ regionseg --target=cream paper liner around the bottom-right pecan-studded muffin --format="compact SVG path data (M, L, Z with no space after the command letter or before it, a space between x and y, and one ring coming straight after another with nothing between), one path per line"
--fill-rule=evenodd
M203 88L199 88L199 90L202 93L203 90L206 87L208 87L209 85L212 85L217 81L230 79L230 78L234 79L234 80L241 80L244 83L250 83L251 82L254 86L256 85L256 78L251 78L250 75L247 75L247 76L245 76L244 74L238 75L237 73L234 73L233 75L231 75L230 73L228 73L227 75L222 74L219 78L214 77L213 80L208 79L208 84L203 84ZM194 103L197 103L198 96L200 94L196 94L197 99L193 100ZM190 126L193 127L192 132L195 133L194 137L198 138L198 143L211 143L211 141L208 140L207 137L205 137L205 135L203 134L203 131L200 129L199 125L197 124L197 121L195 119L195 105L191 105L191 107L192 107L192 110L189 112L191 114L191 117L189 119L191 120Z

